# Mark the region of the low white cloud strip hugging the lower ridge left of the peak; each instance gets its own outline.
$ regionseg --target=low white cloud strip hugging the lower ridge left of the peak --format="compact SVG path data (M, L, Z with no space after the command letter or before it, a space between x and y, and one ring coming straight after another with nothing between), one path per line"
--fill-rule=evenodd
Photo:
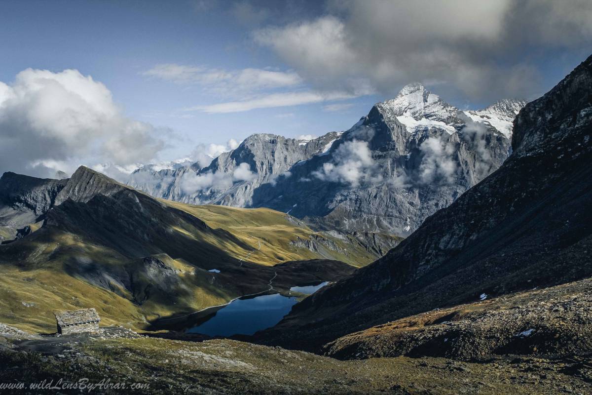
M251 182L257 174L251 171L249 163L240 163L232 172L207 171L203 173L185 173L181 178L181 190L186 194L207 190L227 190L234 182Z

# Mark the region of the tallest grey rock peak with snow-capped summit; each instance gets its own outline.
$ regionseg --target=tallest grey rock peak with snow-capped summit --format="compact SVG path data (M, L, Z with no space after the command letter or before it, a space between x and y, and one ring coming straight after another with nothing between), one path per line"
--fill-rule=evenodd
M496 129L493 111L485 113L471 117L422 85L408 85L375 105L324 155L258 188L253 205L290 210L329 229L410 235L509 155L505 131L511 127Z

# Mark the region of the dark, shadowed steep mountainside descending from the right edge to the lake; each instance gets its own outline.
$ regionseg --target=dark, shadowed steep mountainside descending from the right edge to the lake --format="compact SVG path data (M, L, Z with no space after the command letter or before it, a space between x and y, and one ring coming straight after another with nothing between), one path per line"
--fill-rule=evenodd
M339 336L424 311L590 277L590 92L592 56L520 110L513 152L497 171L383 258L295 306L262 339L318 351ZM574 342L587 330L575 329ZM348 347L359 352L358 345Z

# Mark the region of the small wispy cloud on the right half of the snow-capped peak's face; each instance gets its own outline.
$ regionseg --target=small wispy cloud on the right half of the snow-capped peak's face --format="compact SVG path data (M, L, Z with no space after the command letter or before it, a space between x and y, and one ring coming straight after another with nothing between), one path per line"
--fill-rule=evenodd
M452 182L456 172L454 153L455 144L440 137L428 137L419 146L423 154L422 163L419 166L420 181L425 184L431 182Z

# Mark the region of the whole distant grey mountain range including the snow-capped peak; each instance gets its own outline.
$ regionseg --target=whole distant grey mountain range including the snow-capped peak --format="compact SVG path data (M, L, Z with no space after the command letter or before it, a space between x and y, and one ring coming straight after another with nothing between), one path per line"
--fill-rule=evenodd
M274 208L317 229L408 236L499 168L524 105L462 111L411 84L347 131L253 134L205 168L144 166L128 184L184 203Z

